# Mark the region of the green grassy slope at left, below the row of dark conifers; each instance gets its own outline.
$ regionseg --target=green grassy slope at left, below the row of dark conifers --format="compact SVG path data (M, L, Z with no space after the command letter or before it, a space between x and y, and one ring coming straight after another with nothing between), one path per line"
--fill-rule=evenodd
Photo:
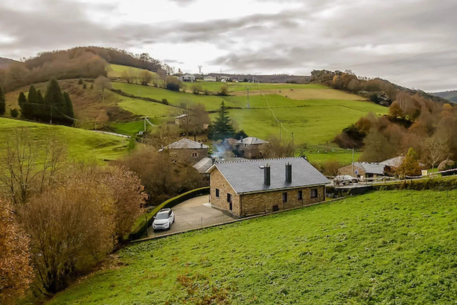
M116 159L127 153L128 139L61 125L46 125L22 120L0 118L0 154L5 149L3 137L13 135L17 127L27 126L37 139L50 134L64 138L68 157L75 160Z

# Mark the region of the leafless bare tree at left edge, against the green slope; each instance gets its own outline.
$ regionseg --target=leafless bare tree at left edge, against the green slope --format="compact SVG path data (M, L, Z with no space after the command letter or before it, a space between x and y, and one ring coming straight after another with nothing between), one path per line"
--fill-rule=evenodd
M36 141L28 128L17 128L5 137L5 158L0 163L0 182L14 204L26 203L33 193L51 185L64 161L66 147L55 135Z

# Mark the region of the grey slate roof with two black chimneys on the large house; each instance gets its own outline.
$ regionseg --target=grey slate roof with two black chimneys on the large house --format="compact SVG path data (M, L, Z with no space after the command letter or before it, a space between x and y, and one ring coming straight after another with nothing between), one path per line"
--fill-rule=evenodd
M292 183L286 183L286 163L292 164ZM270 165L270 185L264 184L263 169ZM207 173L219 169L234 190L240 193L278 190L308 185L324 185L330 181L304 158L257 159L215 163Z

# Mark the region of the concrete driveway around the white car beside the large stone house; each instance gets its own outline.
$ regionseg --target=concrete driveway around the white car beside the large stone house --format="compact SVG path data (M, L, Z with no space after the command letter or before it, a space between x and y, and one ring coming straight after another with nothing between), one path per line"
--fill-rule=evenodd
M148 236L160 236L188 229L201 228L210 224L224 223L234 218L229 213L223 213L209 204L209 195L199 196L181 202L172 208L175 212L175 223L170 230L154 232L148 228Z

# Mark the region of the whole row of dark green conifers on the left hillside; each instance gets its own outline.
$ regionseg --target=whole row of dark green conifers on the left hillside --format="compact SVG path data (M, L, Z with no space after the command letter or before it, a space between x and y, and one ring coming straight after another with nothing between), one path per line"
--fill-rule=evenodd
M49 80L46 94L32 85L28 96L21 92L18 98L21 116L27 120L71 126L74 123L73 103L67 92L62 93L57 80Z

